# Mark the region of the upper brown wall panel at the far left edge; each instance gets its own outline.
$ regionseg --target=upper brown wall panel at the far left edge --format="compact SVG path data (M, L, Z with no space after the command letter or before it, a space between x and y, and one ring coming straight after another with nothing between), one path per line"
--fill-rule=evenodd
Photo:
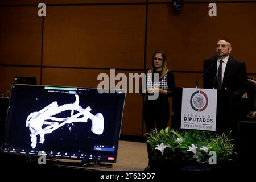
M0 64L40 65L41 44L37 7L0 7Z

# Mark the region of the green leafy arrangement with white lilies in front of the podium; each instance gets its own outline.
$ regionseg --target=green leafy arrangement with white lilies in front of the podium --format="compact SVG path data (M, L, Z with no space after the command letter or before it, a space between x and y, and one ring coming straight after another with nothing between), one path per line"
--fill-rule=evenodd
M232 160L234 152L232 138L212 131L152 130L147 143L152 149L151 160L172 159L199 164L223 164Z

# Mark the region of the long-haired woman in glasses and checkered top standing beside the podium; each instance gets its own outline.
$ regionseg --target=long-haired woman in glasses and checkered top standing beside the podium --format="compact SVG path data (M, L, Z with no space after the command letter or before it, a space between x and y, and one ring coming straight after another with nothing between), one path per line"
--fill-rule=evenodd
M150 74L151 73L151 74ZM158 74L159 80L154 80ZM152 67L147 71L147 93L155 94L158 98L151 100L146 97L144 104L144 121L147 133L156 128L159 130L167 127L170 119L170 109L168 97L172 96L175 88L175 78L171 71L168 71L166 55L162 51L157 51L152 56Z

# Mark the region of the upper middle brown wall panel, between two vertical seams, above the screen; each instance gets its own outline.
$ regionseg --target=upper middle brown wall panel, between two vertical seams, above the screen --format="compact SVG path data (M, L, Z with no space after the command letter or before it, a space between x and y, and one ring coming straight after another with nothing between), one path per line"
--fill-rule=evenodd
M143 69L145 7L48 7L43 65Z

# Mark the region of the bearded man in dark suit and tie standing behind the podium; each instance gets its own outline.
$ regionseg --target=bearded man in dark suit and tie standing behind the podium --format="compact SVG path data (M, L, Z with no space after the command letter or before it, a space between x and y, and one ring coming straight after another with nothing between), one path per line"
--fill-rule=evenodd
M203 84L207 89L228 89L232 90L234 96L242 96L247 86L246 65L230 56L231 50L228 39L218 40L216 55L204 59Z

